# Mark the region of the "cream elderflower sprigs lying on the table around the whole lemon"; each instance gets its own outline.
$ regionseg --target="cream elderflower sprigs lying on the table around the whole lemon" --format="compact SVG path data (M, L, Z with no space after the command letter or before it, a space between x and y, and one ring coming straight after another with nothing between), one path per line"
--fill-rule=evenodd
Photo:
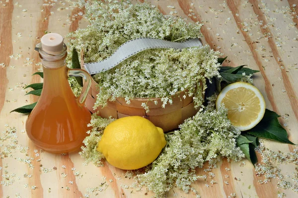
M215 97L214 97L215 98ZM235 138L240 131L227 118L227 110L215 109L213 99L194 117L185 120L180 129L166 134L167 145L159 157L145 168L145 173L136 172L137 188L146 186L156 197L164 197L174 186L184 192L192 191L190 185L204 178L196 174L196 167L215 164L221 157L239 161L243 152L236 146ZM96 150L104 128L113 120L92 115L90 136L83 141L81 156L86 162L102 166L103 154ZM206 178L206 177L205 177Z

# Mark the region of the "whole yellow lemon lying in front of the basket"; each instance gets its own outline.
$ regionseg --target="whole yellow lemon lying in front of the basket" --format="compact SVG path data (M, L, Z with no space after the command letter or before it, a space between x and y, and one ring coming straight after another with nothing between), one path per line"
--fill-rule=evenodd
M130 116L117 119L105 128L97 150L111 165L135 170L154 161L165 145L161 128L146 118Z

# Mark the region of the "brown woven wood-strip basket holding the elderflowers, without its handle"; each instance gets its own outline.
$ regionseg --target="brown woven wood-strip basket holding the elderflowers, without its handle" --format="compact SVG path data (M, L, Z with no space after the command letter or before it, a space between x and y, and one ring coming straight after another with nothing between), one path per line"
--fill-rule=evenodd
M84 69L83 51L81 51L80 67ZM200 87L202 89L202 87ZM160 127L163 131L170 131L178 128L179 124L189 117L194 116L199 109L194 108L194 102L192 97L186 95L183 99L185 92L178 92L172 97L173 103L166 104L165 108L162 108L162 101L159 98L134 98L131 99L131 103L127 104L124 98L116 98L115 101L108 101L107 106L98 107L93 109L94 102L96 101L96 95L99 93L98 84L92 79L91 89L88 92L88 96L85 102L86 107L92 113L97 114L103 118L112 116L113 118L122 118L126 116L138 115L150 120L155 126ZM157 105L154 101L157 100ZM150 111L146 113L141 104L145 102Z

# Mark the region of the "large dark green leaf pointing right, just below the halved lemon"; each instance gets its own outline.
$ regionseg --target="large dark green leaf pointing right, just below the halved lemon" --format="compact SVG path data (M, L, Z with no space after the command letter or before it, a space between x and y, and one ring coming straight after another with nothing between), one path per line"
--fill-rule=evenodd
M288 139L288 133L279 123L278 117L280 116L277 113L266 109L263 119L247 133L256 137L295 145Z

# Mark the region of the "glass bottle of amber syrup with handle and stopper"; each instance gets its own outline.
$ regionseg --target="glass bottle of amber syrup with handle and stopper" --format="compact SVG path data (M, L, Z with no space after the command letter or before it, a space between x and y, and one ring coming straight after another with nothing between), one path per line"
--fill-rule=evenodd
M91 76L84 70L66 66L67 47L59 34L46 34L35 50L42 61L44 84L41 96L27 118L27 135L35 145L48 152L75 151L82 146L89 130L87 124L91 113L84 102ZM69 85L69 76L79 76L84 81L78 98Z

